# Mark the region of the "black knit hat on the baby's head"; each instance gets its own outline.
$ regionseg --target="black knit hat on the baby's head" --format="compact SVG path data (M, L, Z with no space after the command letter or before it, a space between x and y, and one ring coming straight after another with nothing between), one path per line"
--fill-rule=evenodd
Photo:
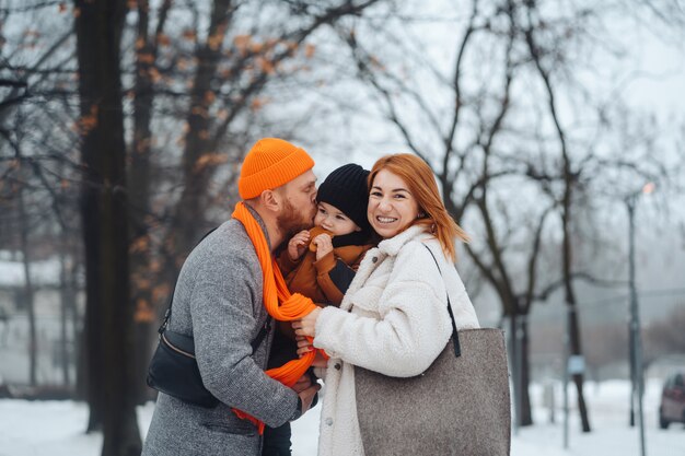
M318 202L335 206L363 232L369 232L371 229L367 218L369 173L355 163L340 166L326 177L316 195Z

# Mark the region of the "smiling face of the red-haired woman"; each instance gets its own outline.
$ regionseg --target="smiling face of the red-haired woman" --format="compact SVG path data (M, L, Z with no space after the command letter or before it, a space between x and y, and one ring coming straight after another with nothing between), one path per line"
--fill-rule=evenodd
M373 230L387 239L409 226L418 213L418 202L404 179L387 169L381 169L369 194L367 215Z

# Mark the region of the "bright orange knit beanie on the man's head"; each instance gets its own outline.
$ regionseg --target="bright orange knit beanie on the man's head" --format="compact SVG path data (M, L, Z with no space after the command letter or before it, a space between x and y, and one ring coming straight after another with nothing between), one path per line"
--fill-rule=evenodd
M242 199L252 199L264 190L277 188L314 167L304 151L278 138L263 138L252 147L241 168L237 190Z

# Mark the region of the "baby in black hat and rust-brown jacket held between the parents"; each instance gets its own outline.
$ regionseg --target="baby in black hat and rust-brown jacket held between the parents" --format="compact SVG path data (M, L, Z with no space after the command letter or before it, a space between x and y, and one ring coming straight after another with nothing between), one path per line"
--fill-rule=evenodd
M371 244L367 218L369 172L350 163L335 169L318 187L314 227L292 236L278 265L292 293L317 305L339 306ZM268 369L298 358L290 321L280 321L274 336ZM312 406L313 407L313 406ZM266 428L262 456L290 455L290 423Z

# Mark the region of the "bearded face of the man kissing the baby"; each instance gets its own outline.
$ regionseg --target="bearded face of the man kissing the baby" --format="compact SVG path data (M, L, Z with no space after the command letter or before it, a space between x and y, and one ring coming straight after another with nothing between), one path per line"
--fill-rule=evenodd
M312 169L279 188L283 207L277 217L278 230L291 236L314 225L316 215L316 176Z

